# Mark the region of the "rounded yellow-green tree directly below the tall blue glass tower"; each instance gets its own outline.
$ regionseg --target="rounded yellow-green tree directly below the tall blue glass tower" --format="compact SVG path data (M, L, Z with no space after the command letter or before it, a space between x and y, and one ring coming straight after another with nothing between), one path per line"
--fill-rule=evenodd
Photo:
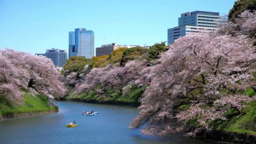
M89 64L89 69L92 68L93 59L71 56L70 59L67 59L67 63L63 66L64 70L69 70L69 72L76 72L77 74L82 74L83 67Z

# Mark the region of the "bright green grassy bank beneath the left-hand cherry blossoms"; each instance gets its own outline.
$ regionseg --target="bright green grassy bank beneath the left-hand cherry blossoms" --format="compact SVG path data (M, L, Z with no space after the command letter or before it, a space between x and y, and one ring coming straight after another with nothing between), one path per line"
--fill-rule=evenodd
M58 107L51 106L49 100L45 96L32 96L26 91L23 91L23 93L24 99L21 105L16 105L5 98L5 96L0 96L0 119L58 111Z

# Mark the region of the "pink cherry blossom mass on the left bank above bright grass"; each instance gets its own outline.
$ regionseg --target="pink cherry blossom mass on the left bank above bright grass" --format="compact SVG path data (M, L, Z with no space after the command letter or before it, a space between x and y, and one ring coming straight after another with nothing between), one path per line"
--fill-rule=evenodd
M21 89L40 92L48 98L63 96L61 74L51 59L12 49L0 51L0 93L12 101L21 99Z

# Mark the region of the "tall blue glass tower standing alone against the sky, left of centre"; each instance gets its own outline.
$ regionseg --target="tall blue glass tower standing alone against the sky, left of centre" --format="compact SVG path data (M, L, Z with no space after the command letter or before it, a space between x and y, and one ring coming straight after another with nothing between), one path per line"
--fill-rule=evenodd
M69 32L69 58L83 56L92 58L94 54L94 32L85 28L76 28Z

